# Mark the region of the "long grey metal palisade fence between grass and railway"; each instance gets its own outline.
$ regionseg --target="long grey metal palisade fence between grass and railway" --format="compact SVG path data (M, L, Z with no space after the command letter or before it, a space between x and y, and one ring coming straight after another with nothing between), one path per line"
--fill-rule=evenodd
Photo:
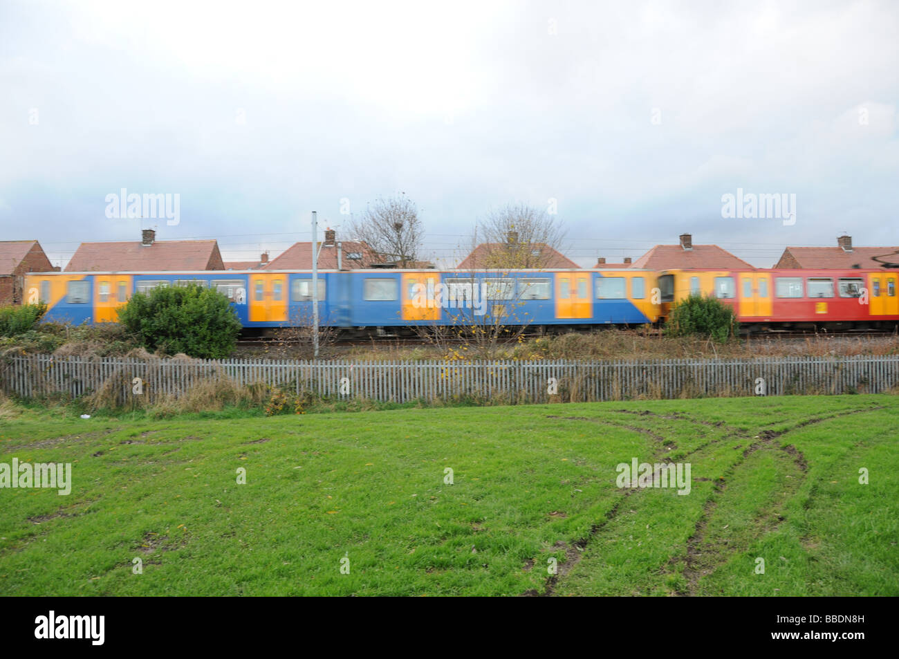
M899 385L899 355L749 360L288 361L10 356L0 389L22 397L84 396L101 387L141 402L228 378L311 396L378 401L601 401L633 398L878 393Z

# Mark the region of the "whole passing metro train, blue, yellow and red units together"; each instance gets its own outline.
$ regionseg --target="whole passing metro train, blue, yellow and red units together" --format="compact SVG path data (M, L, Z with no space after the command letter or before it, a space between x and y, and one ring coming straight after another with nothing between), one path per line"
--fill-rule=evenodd
M548 331L659 325L690 294L734 308L744 332L894 329L899 272L640 269L318 272L322 325L374 335L423 325L503 325ZM217 289L245 330L307 324L312 271L33 272L25 301L48 306L45 321L109 323L135 293L197 284Z

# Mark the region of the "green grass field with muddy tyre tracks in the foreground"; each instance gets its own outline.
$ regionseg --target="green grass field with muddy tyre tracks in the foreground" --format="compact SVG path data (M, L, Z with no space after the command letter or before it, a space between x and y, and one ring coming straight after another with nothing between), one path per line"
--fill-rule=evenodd
M899 594L895 396L3 417L74 482L0 489L4 595Z

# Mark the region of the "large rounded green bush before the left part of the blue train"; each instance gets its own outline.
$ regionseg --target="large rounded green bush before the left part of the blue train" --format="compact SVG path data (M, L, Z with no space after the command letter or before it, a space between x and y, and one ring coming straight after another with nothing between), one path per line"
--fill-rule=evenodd
M195 284L137 293L120 308L119 322L149 351L202 359L231 354L241 329L227 297Z

